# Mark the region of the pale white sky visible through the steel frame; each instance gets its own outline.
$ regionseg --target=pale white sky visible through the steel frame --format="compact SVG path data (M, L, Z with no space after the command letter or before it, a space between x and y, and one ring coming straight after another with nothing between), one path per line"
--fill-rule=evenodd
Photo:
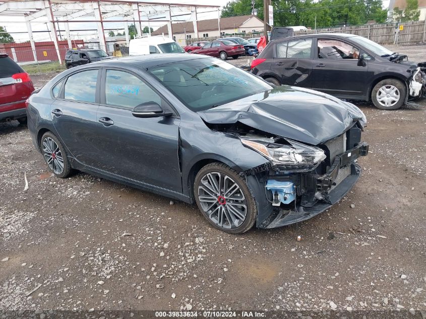
M154 0L153 0L154 1ZM167 3L166 0L155 0L156 2L161 3ZM218 5L220 7L223 7L226 5L226 3L229 0L216 0L214 1L214 5ZM191 4L191 5L209 5L212 4L211 0L173 0L173 3L185 3L185 4ZM383 0L383 7L387 8L389 5L389 0ZM204 11L209 11L211 9L204 9ZM210 12L210 13L200 13L203 10L198 8L198 19L199 20L205 20L205 19L215 19L217 18L216 12ZM187 16L189 17L189 16ZM78 18L79 20L85 20L84 18ZM94 18L86 18L87 20L94 19ZM119 19L119 18L118 18ZM46 20L46 18L40 18L40 20ZM11 23L14 22L14 23ZM11 17L11 16L1 16L0 15L0 26L6 27L6 30L11 33L13 38L16 42L24 42L29 40L28 33L27 33L27 27L25 23L15 23L15 22L25 22L23 17ZM164 22L157 22L157 23L150 23L151 27L155 30L156 28L164 25ZM34 31L46 31L47 26L45 23L37 23L32 24L32 30ZM123 32L124 24L120 22L112 22L112 23L104 23L104 28L117 28L118 32ZM57 28L57 25L56 25ZM59 29L65 30L65 26L63 24L59 23ZM70 23L70 29L71 30L81 30L81 29L96 29L95 23ZM23 33L13 33L14 32L23 32ZM62 32L63 35L65 35L65 31ZM49 32L34 32L33 33L34 40L35 41L50 41L50 34ZM97 31L80 31L80 32L71 32L71 38L72 39L83 39L87 40L90 38L97 37Z

